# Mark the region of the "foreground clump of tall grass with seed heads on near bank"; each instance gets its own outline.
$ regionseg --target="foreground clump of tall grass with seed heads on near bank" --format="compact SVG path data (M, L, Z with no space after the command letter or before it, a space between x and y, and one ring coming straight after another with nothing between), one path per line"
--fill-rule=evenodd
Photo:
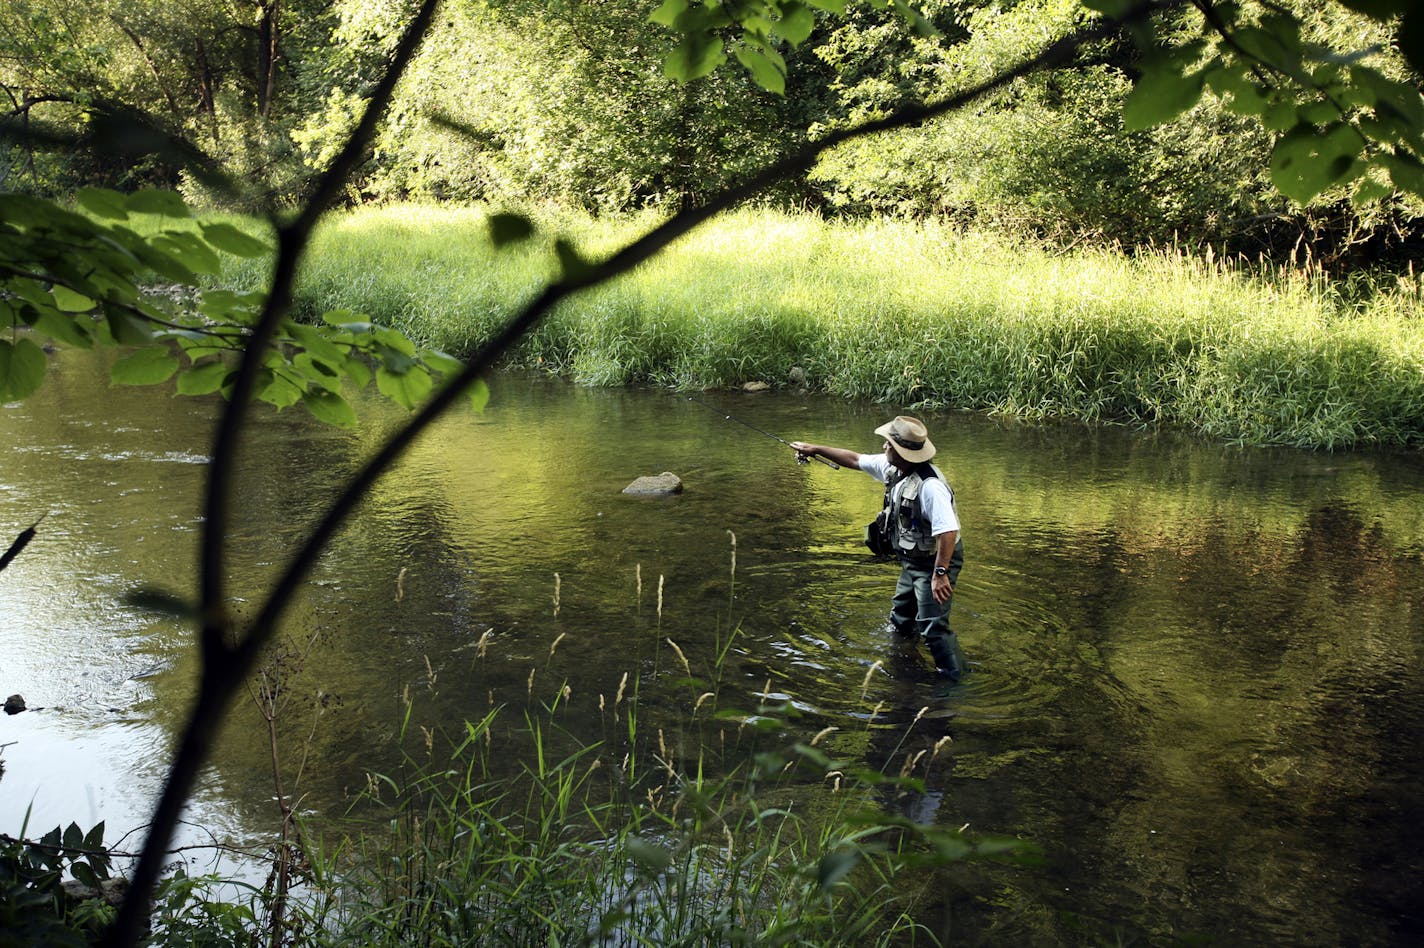
M561 732L557 706L525 715L517 750L491 712L449 756L373 781L382 823L319 873L332 944L936 944L914 921L936 897L903 871L1027 851L877 813L806 744L743 746L719 773L718 743L681 759L671 736L638 734L632 705L595 744ZM514 777L497 762L511 754Z

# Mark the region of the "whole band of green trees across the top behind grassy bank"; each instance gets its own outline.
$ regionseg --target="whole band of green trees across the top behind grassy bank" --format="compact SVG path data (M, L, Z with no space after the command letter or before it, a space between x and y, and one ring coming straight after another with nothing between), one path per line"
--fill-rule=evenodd
M450 0L346 198L676 209L1105 14L1135 26L971 110L833 149L763 199L1126 245L1413 226L1424 30L1404 0ZM224 168L242 206L300 201L410 16L402 0L20 0L0 11L3 186L212 199L199 172ZM145 137L174 147L121 157Z

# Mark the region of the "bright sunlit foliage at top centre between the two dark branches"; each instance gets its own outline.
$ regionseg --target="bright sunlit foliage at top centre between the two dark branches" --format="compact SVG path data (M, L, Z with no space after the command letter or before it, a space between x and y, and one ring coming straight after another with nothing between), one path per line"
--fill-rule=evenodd
M400 27L366 3L337 11L345 47L383 48ZM662 75L655 57L668 41L646 13L635 0L450 6L397 93L359 195L679 205L800 139L800 107L743 75L692 85ZM336 88L298 130L312 167L325 167L360 104L359 85Z

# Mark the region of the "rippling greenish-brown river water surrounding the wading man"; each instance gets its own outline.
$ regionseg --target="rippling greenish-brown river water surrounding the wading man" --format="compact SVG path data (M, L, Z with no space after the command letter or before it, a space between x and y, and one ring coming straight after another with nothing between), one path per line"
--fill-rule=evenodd
M60 353L0 410L0 831L141 824L192 695L191 633L124 604L194 585L216 404L111 389ZM879 487L661 391L524 376L423 438L333 542L290 612L318 633L283 734L302 807L336 813L431 729L491 703L600 717L624 673L644 727L696 690L799 712L803 739L887 771L947 747L884 806L1034 841L1041 867L967 864L920 920L967 944L1390 945L1424 935L1424 497L1418 454L1243 448L1173 433L928 413L964 522L946 688L886 631L894 567L863 555ZM787 440L879 450L881 406L702 396ZM262 410L234 525L241 612L399 411L355 433ZM684 494L624 485L678 473ZM721 663L716 656L723 653ZM276 826L244 702L182 840ZM948 736L948 744L941 743ZM590 725L587 739L600 737ZM289 742L290 743L290 742ZM293 752L283 750L290 767ZM805 794L824 793L806 787ZM130 840L132 841L132 840ZM197 858L197 857L195 857Z

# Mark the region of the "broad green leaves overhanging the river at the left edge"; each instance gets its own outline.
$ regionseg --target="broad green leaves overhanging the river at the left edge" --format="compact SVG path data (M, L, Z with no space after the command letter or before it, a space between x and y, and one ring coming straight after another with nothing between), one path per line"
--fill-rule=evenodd
M0 205L0 329L13 333L0 339L0 397L38 389L46 344L130 349L112 364L115 384L177 377L179 394L226 394L234 356L266 296L199 285L221 273L225 255L265 255L266 241L229 222L194 219L172 192L85 189L78 204L93 216L20 195ZM318 326L282 323L258 397L278 409L300 403L326 423L350 427L356 414L346 384L375 379L383 394L414 409L457 369L389 327L333 310ZM481 393L471 397L483 404Z

